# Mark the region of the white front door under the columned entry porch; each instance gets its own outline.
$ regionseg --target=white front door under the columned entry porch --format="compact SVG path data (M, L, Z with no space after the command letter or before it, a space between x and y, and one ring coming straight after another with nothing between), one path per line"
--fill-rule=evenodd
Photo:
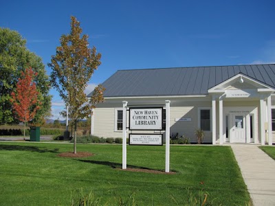
M233 115L233 142L246 142L245 137L245 114L238 113Z

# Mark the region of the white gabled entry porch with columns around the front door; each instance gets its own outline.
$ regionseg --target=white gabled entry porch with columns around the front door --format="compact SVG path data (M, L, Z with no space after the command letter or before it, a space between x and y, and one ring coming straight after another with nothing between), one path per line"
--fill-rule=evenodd
M212 144L218 141L272 145L274 89L239 74L208 93L212 95ZM245 106L250 102L256 103Z

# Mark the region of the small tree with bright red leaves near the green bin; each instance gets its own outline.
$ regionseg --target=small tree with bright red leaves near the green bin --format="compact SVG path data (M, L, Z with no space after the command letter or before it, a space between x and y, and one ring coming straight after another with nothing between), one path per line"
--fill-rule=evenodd
M20 122L24 123L24 139L26 122L30 122L34 118L36 111L39 110L41 102L38 100L39 91L36 89L36 83L32 68L25 69L25 73L21 71L21 78L17 82L15 91L11 93L12 108Z

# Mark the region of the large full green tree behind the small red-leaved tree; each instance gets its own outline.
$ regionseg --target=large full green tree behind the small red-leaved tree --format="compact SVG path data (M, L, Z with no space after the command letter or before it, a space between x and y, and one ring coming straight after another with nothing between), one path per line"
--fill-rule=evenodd
M26 40L16 31L0 27L0 124L18 123L12 113L11 93L15 88L21 71L32 67L41 108L32 119L32 124L41 125L51 114L50 79L46 74L42 59L30 52Z

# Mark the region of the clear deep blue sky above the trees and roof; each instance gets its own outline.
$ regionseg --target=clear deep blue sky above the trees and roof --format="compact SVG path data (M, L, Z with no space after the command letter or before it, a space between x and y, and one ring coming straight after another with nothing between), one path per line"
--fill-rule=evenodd
M102 65L88 91L118 69L275 62L275 1L5 1L0 27L17 30L47 67L76 16ZM63 110L52 89L53 119Z

